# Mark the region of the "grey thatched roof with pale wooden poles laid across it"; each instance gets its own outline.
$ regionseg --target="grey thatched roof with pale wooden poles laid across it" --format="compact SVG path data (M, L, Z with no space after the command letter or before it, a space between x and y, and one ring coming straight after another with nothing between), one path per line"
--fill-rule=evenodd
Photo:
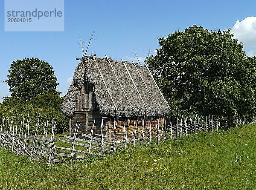
M148 68L109 61L90 56L79 63L61 105L64 114L69 117L73 115L79 90L85 80L93 84L96 103L104 115L164 115L169 112L169 105Z

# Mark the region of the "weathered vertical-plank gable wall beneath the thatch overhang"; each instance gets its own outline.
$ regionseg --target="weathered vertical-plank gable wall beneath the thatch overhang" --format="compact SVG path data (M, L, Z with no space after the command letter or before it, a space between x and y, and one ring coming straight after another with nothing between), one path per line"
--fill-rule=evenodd
M93 94L93 85L87 81L84 83L84 86L81 88L77 101L76 101L76 111L95 111L99 110L96 104L96 99Z

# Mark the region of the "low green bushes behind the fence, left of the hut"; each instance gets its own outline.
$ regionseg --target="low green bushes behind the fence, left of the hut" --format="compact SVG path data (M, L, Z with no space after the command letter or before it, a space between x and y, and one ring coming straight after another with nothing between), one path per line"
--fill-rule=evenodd
M45 95L48 97L47 95ZM52 96L50 96L52 97ZM42 98L45 100L44 98ZM33 106L31 104L23 104L19 98L13 98L13 97L7 97L5 100L0 104L0 114L3 116L3 118L7 119L9 118L9 121L13 119L16 127L16 115L18 116L18 124L20 127L21 121L23 119L26 122L28 113L30 117L30 133L35 133L36 126L38 124L38 115L40 113L40 125L39 125L39 134L44 133L44 125L45 121L49 122L49 126L51 125L52 118L54 118L56 122L55 126L55 133L61 133L63 131L68 130L68 119L66 116L64 116L58 107L55 107L55 102L58 102L58 105L60 104L59 101L61 101L61 98L56 98L55 96L52 97L51 100L55 99L55 101L52 101L53 104L51 105L51 102L45 102L44 104L40 104L41 101L32 101L36 102L37 105ZM41 98L35 98L35 100L41 100ZM17 103L17 104L16 104ZM41 107L39 107L41 106ZM18 130L20 129L18 127Z

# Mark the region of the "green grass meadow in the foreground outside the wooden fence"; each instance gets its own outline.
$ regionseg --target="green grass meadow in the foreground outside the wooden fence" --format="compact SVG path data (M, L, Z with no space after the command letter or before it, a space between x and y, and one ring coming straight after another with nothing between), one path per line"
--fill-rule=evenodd
M256 124L201 132L115 155L91 156L48 167L0 149L0 189L184 189L256 188Z

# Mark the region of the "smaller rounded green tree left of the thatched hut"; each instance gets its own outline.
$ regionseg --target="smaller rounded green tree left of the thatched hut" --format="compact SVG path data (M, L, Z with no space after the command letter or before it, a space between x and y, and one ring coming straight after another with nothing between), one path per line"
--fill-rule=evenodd
M52 66L38 58L24 58L13 61L8 70L8 80L12 97L29 101L38 95L60 95L56 87L57 78Z

